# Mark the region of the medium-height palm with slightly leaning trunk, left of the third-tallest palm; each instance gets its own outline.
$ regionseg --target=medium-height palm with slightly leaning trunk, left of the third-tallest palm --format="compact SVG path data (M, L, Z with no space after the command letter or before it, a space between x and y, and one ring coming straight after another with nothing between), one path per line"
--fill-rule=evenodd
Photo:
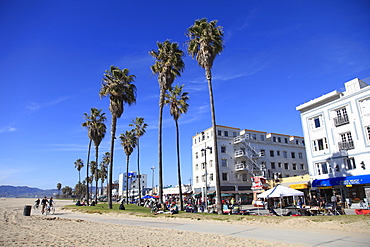
M82 123L82 127L87 128L87 136L89 137L89 148L87 152L87 163L86 163L86 177L89 177L89 164L90 164L90 150L91 150L91 143L94 141L94 144L96 145L97 142L101 142L101 139L103 139L104 135L102 132L105 134L105 120L106 117L104 116L105 113L102 113L102 109L97 109L97 108L91 108L90 109L90 115L87 113L84 113L84 118L85 122ZM104 125L104 127L102 126ZM101 137L103 135L103 137ZM101 139L100 139L101 138ZM99 141L100 139L100 141ZM97 142L96 142L97 141ZM99 145L98 145L99 146ZM96 147L96 146L95 146ZM97 150L97 147L96 147ZM96 154L97 156L97 154ZM89 204L90 198L89 198L89 183L86 183L86 200L87 203Z

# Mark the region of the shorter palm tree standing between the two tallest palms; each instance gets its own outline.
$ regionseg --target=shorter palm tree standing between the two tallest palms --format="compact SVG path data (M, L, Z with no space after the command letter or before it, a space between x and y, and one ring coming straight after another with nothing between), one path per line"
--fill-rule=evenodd
M179 181L179 194L180 194L180 210L184 208L182 200L182 183L181 183L181 169L180 169L180 135L179 135L179 123L178 120L181 114L188 111L189 100L188 93L182 92L184 85L171 87L169 92L165 95L164 103L170 105L170 114L173 116L176 124L176 147L177 147L177 176Z

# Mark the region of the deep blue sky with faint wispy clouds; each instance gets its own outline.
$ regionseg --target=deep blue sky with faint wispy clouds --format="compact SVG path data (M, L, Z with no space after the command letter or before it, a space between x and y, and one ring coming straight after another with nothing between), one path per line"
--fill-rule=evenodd
M158 166L159 87L148 55L170 39L185 50L186 29L217 19L225 50L213 66L217 123L302 136L295 107L344 82L370 76L370 2L354 1L0 1L0 185L74 187L74 162L87 159L83 113L108 116L100 156L109 151L109 100L98 92L110 65L136 75L137 104L126 107L117 135L131 119L149 125L140 139L141 172ZM175 84L189 92L180 118L182 181L191 177L191 137L211 126L204 71L189 56ZM175 125L163 119L164 184L177 184ZM136 151L130 170L136 170ZM126 156L116 142L114 179ZM155 184L158 184L157 171ZM85 168L81 171L85 176Z

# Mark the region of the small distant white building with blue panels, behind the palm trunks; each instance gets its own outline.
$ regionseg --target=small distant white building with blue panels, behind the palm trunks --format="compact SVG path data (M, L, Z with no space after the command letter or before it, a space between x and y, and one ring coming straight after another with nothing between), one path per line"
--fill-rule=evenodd
M140 183L141 183L141 193L142 196L144 195L143 192L145 191L145 188L147 188L147 179L148 176L146 174L140 175ZM129 172L128 176L126 176L126 173L119 174L118 184L118 195L120 197L126 196L126 179L128 178L128 194L129 197L135 197L139 195L139 178L137 172Z

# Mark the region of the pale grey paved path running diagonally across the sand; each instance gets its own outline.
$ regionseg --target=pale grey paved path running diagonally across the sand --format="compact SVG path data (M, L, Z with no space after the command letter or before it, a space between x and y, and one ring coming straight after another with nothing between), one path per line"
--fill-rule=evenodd
M57 217L69 219L81 219L85 221L101 222L107 224L122 224L132 226L156 227L163 229L173 229L180 231L212 233L241 238L258 239L265 241L276 241L287 244L297 244L303 246L351 246L369 247L370 236L364 233L336 232L329 230L304 231L291 228L271 228L251 225L206 223L184 220L162 220L162 219L143 219L143 218L117 218L109 215L91 215L74 213L68 211L56 212Z

